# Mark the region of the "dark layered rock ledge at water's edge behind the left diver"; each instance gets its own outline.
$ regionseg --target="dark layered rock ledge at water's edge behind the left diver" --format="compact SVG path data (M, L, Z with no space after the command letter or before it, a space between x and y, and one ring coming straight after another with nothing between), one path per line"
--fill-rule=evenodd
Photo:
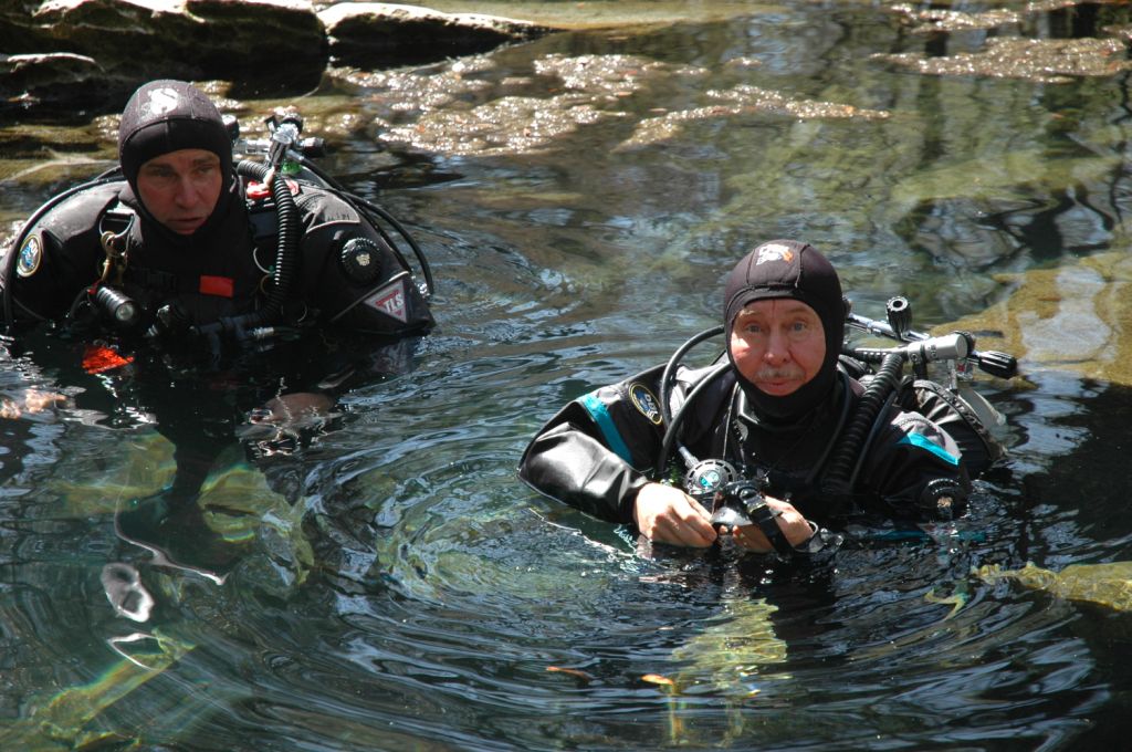
M381 2L3 0L0 96L9 105L118 110L155 78L233 82L257 95L314 88L333 54L355 67L440 60L548 27Z

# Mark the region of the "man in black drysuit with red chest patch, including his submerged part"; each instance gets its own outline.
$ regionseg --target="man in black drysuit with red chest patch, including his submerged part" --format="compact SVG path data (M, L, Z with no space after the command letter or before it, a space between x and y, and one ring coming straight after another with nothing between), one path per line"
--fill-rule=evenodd
M171 161L180 155L196 160L183 173ZM37 365L97 374L109 390L84 398L111 421L127 409L154 413L177 476L148 514L194 518L201 482L249 411L268 401L283 413L323 409L409 369L412 344L434 326L430 273L418 253L424 291L372 213L323 176L285 177L282 156L233 165L229 128L190 84L138 88L119 161L120 174L55 197L17 236L0 276L9 350L49 330L54 341L32 347ZM186 208L189 188L162 205L173 214L163 221L152 188L154 206L143 200L152 174L204 185L207 217L185 224L204 213Z

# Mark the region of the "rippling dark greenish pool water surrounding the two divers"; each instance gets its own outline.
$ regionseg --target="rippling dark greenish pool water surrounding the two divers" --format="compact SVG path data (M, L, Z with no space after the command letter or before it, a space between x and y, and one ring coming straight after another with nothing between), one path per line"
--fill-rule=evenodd
M437 331L327 420L254 419L319 353L161 383L50 340L0 364L15 404L69 398L0 420L0 747L1123 746L1132 596L972 567L1132 559L1129 55L1049 46L1114 42L1132 11L964 3L981 27L933 31L876 3L693 5L294 100L437 279ZM230 109L254 129L276 103ZM101 122L6 147L6 228L106 166ZM27 171L63 153L85 161ZM825 251L858 311L908 296L920 328L1056 280L987 324L1026 378L977 381L1010 454L966 518L852 530L797 569L638 550L517 481L544 420L714 325L722 276L778 237ZM122 527L172 477L157 426L215 455L180 567ZM106 597L132 573L143 621Z

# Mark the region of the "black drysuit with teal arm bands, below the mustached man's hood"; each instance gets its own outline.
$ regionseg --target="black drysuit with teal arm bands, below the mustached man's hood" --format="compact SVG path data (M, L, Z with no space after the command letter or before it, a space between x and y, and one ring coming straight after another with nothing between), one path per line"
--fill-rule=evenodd
M678 369L670 415L712 369ZM535 490L610 522L632 523L636 493L657 477L664 436L659 410L662 368L574 400L539 431L523 454L520 477ZM917 382L892 407L856 472L852 507L889 518L931 519L936 501L950 496L955 511L970 482L964 455L984 469L993 452L953 395ZM830 395L803 419L773 426L755 419L727 369L696 394L683 416L678 441L697 459L719 459L751 478L765 475L764 493L789 501L807 519L829 524L839 509L822 490L835 439L854 417L861 385L839 369ZM961 404L959 405L961 408ZM932 419L928 418L932 417ZM946 427L946 428L945 428ZM668 470L660 476L668 478Z

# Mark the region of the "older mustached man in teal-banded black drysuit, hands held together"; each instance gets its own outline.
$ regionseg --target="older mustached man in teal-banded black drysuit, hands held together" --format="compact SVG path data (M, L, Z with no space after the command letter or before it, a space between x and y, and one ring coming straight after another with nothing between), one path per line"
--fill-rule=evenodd
M664 394L660 366L565 407L524 452L520 477L589 514L632 523L653 541L706 547L731 533L757 553L804 547L821 525L835 524L846 512L910 520L961 512L970 481L952 433L966 447L974 429L940 410L931 395L882 411L856 482L840 498L823 484L847 417L864 393L839 358L846 306L837 272L813 246L762 243L727 277L730 368L713 376L718 368L676 373L669 407L670 415L684 408L677 441L694 456L757 478L777 524L713 523L706 501L654 480L670 477L667 468L654 467L668 429L657 398ZM697 385L702 388L686 407Z

